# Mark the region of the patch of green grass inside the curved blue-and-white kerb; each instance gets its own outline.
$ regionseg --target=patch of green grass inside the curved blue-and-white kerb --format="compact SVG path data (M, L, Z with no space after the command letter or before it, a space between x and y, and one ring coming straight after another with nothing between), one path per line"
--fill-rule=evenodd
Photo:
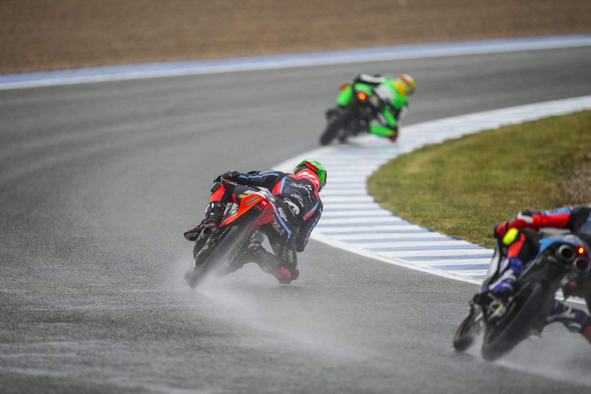
M492 248L493 226L521 210L588 203L569 200L563 183L589 152L591 111L554 116L392 159L368 189L402 219Z

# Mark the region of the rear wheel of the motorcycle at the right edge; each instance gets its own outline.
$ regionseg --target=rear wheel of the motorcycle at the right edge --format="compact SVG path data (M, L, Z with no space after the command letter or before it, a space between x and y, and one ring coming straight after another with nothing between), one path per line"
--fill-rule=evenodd
M527 338L540 317L550 310L554 293L543 282L532 282L517 296L516 309L498 325L486 328L482 357L493 361L508 353Z

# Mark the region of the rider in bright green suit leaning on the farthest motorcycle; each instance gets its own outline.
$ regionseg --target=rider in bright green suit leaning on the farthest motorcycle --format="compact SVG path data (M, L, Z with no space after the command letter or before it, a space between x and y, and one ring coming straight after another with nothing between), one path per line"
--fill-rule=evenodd
M369 125L369 131L395 142L398 138L398 121L408 109L408 96L414 93L416 87L413 77L408 74L400 74L398 78L380 74L359 74L353 79L353 84L356 83L371 86L372 91L379 97L378 108ZM345 84L340 90L336 103L341 108L346 108L352 101L353 85Z

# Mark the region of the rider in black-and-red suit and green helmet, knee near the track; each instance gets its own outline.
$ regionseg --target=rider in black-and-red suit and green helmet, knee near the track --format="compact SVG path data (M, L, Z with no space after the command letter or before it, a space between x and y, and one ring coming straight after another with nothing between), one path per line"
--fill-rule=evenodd
M259 242L248 246L249 262L275 276L281 284L289 284L300 275L297 252L303 252L310 233L322 215L319 192L326 185L326 169L313 160L296 165L293 174L264 170L251 172L229 171L216 178L212 197L205 210L205 219L199 226L187 230L184 236L194 241L203 229L217 230L226 203L239 204L242 198L254 193L248 186L264 187L275 196L275 213L270 223L261 227L271 243L274 253Z

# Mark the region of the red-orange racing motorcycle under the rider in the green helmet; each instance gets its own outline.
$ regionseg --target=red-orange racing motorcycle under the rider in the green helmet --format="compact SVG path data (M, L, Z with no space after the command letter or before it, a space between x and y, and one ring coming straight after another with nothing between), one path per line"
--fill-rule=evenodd
M272 194L256 187L240 204L226 204L220 226L204 229L194 243L193 261L184 275L189 286L195 288L207 276L225 276L242 268L248 245L264 240L259 228L271 222L274 210Z

